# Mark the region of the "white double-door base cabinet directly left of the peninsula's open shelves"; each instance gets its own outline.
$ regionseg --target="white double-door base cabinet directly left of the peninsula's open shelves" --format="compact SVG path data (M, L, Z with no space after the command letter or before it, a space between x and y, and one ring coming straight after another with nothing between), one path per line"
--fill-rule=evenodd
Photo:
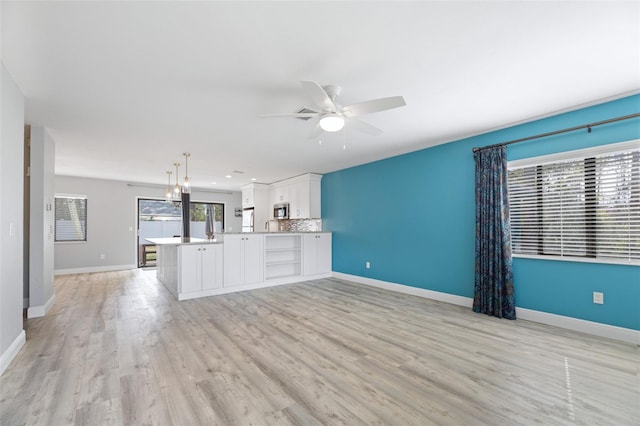
M224 286L264 281L264 235L224 236Z

